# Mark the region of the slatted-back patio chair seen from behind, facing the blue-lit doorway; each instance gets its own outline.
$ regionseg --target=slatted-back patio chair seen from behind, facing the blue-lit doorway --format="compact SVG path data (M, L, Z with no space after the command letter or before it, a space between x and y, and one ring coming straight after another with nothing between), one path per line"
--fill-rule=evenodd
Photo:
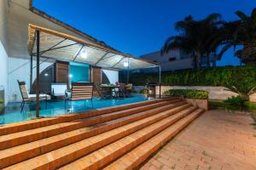
M66 96L65 99L65 109L67 108L67 101L79 101L84 100L84 105L86 104L86 100L90 99L91 107L93 108L92 104L92 97L93 97L93 82L72 82L71 94L70 96Z

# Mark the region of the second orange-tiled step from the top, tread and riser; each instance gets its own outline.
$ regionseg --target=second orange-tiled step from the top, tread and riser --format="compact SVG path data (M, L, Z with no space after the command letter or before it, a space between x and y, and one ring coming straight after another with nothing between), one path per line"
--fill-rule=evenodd
M115 111L99 116L90 116L84 119L73 120L71 122L62 122L46 127L39 127L31 130L22 131L19 133L11 133L0 136L0 150L8 149L20 144L26 144L39 139L49 138L57 134L66 133L75 129L90 126L99 122L107 122L122 116L129 116L141 111L148 111L163 105L169 105L179 102L179 99L172 99L168 101L162 101L151 105L143 105L135 108L131 108L125 111Z

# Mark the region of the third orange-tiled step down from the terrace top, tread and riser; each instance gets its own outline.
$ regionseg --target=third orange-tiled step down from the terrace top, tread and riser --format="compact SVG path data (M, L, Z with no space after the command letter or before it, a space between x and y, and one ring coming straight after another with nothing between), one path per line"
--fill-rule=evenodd
M179 110L185 109L189 106L185 105L184 102L177 102L170 105L164 105L162 107L155 108L150 111L139 112L131 116L125 116L108 122L98 123L90 127L79 128L77 130L62 133L57 136L49 137L47 139L40 139L28 144L22 144L6 150L0 150L0 165L2 167L8 167L17 162L24 161L34 156L42 155L51 150L59 149L68 144L78 142L79 140L89 138L99 133L107 132L108 130L111 130L113 128L120 127L131 122L136 122L148 116L152 116L156 113L167 111L181 105L183 105L183 107L180 107Z

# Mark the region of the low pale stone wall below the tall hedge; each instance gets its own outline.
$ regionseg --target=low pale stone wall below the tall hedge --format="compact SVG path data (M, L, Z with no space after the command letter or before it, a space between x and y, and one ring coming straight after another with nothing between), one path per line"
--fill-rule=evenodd
M135 86L134 89L141 89L143 86ZM224 100L238 94L226 90L224 87L212 87L212 86L161 86L161 94L169 89L198 89L205 90L209 93L209 99L212 100ZM159 86L156 87L156 94L160 94ZM250 101L256 102L256 94L250 96Z

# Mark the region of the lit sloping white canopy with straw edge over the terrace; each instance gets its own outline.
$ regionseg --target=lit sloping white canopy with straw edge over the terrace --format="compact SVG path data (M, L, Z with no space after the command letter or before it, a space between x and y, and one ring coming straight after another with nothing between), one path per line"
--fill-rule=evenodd
M59 31L41 26L28 27L28 52L36 55L36 31L40 31L40 56L49 59L75 61L103 68L126 70L143 69L157 66L145 59L137 59L130 54L123 54L113 48L95 42L82 40Z

